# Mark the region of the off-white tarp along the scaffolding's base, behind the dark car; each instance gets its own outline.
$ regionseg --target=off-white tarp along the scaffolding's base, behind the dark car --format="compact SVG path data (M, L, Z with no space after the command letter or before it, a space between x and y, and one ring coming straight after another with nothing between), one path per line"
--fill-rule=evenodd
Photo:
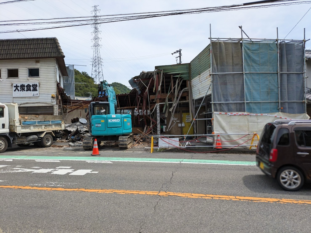
M237 114L248 114L246 112L236 112ZM213 114L213 124L214 124L214 132L215 132L215 140L217 139L218 134L234 134L234 133L258 133L259 137L262 132L263 127L265 124L269 122L273 122L275 120L282 120L279 117L285 117L292 120L308 120L310 117L303 113L303 114L289 114L283 112L276 112L276 113L269 113L263 115L231 115L231 113L214 113ZM278 117L274 117L278 116ZM285 120L285 119L284 119ZM230 141L230 142L221 142L222 147L226 145L239 145L244 143L245 145L250 145L253 135L247 135L242 139L244 135L221 135L221 141ZM239 140L237 140L239 139ZM208 141L211 141L207 139ZM236 141L234 141L236 140ZM248 142L246 142L249 140ZM216 144L216 143L215 143ZM257 141L254 141L253 144L257 144ZM236 148L245 148L245 147L236 147ZM249 146L247 147L249 148ZM255 147L253 147L255 148Z

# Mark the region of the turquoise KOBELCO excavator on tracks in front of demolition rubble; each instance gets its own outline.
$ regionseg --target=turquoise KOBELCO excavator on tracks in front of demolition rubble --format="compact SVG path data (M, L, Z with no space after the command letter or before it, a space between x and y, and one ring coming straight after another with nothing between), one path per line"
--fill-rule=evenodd
M91 137L83 139L83 149L91 150L95 138L102 141L118 141L120 149L127 149L133 143L131 114L116 114L117 100L114 88L106 81L98 85L99 96L107 96L108 102L91 102L89 105L89 132Z

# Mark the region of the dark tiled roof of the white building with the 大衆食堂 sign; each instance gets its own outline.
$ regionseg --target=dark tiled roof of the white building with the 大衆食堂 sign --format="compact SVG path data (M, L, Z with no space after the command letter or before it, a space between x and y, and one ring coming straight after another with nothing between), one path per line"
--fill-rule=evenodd
M0 39L0 60L49 57L65 57L56 37Z

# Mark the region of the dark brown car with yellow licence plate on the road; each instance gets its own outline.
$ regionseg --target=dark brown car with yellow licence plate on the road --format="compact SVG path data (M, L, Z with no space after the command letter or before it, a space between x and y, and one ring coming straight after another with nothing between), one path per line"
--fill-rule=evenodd
M287 191L311 182L311 120L277 120L262 130L256 165Z

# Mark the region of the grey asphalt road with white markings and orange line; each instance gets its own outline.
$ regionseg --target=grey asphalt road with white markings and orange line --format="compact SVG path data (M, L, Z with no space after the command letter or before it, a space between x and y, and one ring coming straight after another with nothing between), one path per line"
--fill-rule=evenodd
M221 164L253 155L100 152L115 160L63 148L0 154L2 232L310 232L311 185L287 192L256 166Z

